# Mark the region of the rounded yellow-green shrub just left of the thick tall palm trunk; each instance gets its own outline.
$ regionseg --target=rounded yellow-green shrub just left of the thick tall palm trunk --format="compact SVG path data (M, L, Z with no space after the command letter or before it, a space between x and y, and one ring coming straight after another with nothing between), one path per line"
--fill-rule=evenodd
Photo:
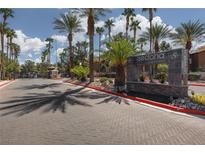
M78 80L86 81L89 68L85 66L75 66L73 69L71 69L71 73L73 73Z

